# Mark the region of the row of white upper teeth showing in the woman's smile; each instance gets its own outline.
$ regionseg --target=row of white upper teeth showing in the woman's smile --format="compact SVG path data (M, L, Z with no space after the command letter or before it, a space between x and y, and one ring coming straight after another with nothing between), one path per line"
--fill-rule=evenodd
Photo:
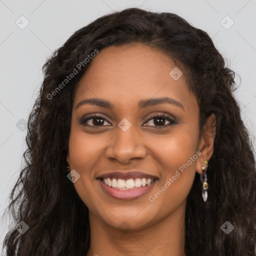
M153 182L152 178L130 178L130 179L121 179L121 178L103 178L103 182L108 185L115 187L120 190L128 190L136 187L146 186Z

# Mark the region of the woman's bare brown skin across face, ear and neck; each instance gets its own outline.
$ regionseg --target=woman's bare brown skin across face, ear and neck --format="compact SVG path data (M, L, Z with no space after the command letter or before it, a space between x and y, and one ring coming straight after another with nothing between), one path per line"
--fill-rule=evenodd
M74 96L69 154L67 162L80 178L74 187L89 209L89 255L172 255L184 253L184 219L186 197L195 172L202 173L204 160L213 152L215 117L208 118L208 128L199 136L199 107L189 92L184 75L178 80L169 72L175 64L161 51L136 43L104 48L91 60L79 81ZM139 109L142 99L170 97L183 108L169 103ZM83 104L86 98L110 101L113 109ZM100 114L103 126L83 116ZM156 116L167 114L176 123ZM127 131L118 123L126 118ZM158 118L158 119L157 119ZM157 128L154 120L164 125ZM94 125L94 126L89 126ZM98 127L98 128L97 128ZM162 126L160 126L162 127ZM197 159L167 186L153 202L154 195L176 170L197 154ZM118 200L107 195L96 177L110 171L139 170L159 178L145 195L130 200Z

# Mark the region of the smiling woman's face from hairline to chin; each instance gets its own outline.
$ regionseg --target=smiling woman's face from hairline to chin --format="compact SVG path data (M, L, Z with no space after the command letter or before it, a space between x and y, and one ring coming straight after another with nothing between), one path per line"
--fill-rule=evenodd
M67 156L90 217L138 229L184 213L203 165L199 108L184 75L142 44L110 46L90 61L74 97ZM148 175L154 181L145 185Z

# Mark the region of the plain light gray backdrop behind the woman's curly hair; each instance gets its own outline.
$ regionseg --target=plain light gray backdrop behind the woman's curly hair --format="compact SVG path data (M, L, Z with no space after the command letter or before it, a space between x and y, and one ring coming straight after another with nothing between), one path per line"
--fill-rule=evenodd
M21 118L27 120L42 82L41 66L46 57L75 30L97 17L113 10L139 6L177 13L211 36L227 58L229 67L241 77L235 95L255 148L255 0L0 0L0 216L19 175L26 148L26 131L21 131L22 126L18 128L16 123ZM15 23L16 20L21 23L21 15L29 21L24 29ZM221 24L226 15L234 21L229 29ZM228 18L222 22L225 26L231 24ZM7 224L1 217L0 246Z

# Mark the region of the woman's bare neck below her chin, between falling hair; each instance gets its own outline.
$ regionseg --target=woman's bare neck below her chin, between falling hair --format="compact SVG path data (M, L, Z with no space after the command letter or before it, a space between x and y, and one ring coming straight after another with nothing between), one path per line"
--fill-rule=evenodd
M89 212L90 247L86 256L185 256L185 204L186 200L152 225L125 231Z

